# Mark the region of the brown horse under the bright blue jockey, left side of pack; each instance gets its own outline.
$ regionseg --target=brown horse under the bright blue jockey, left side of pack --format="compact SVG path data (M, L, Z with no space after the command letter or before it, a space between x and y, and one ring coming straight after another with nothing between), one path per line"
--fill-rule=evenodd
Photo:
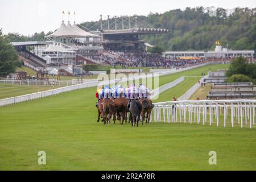
M109 98L104 98L102 101L102 111L104 113L104 125L108 125L110 123L110 119L112 114L114 113L115 106L114 102Z

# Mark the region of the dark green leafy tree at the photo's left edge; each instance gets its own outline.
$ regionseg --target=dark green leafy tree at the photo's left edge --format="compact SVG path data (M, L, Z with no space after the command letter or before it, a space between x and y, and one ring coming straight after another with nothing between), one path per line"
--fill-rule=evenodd
M2 35L0 30L0 76L7 76L14 73L20 61L18 60L18 53L10 44L9 39Z

